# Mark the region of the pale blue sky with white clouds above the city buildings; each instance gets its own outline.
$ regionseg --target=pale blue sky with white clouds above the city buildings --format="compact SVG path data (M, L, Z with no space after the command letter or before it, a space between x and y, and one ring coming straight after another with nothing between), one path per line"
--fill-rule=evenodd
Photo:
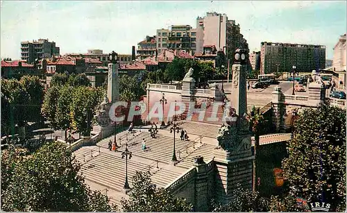
M173 24L225 13L239 23L250 51L261 42L320 44L326 58L346 33L346 1L1 1L1 58L20 58L20 42L56 42L60 54L131 46Z

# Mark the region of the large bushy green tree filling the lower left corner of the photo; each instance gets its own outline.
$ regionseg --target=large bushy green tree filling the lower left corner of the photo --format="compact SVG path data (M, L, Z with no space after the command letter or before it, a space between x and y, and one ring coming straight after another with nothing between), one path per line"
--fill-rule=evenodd
M65 144L45 144L33 155L1 153L1 208L8 212L110 212L107 196L91 191ZM3 179L4 178L4 179ZM5 186L5 187L4 187Z

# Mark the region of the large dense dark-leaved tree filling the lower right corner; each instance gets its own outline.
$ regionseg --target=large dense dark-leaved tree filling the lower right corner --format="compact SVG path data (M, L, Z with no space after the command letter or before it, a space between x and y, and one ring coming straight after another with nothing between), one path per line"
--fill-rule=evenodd
M346 110L329 103L306 108L294 124L282 167L289 194L346 209Z

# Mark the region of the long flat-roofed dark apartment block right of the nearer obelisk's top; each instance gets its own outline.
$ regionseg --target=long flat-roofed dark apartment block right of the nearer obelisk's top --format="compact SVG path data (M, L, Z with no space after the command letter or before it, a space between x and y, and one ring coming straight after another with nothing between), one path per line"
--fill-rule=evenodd
M262 42L260 56L260 74L288 72L293 66L299 72L325 68L323 45Z

